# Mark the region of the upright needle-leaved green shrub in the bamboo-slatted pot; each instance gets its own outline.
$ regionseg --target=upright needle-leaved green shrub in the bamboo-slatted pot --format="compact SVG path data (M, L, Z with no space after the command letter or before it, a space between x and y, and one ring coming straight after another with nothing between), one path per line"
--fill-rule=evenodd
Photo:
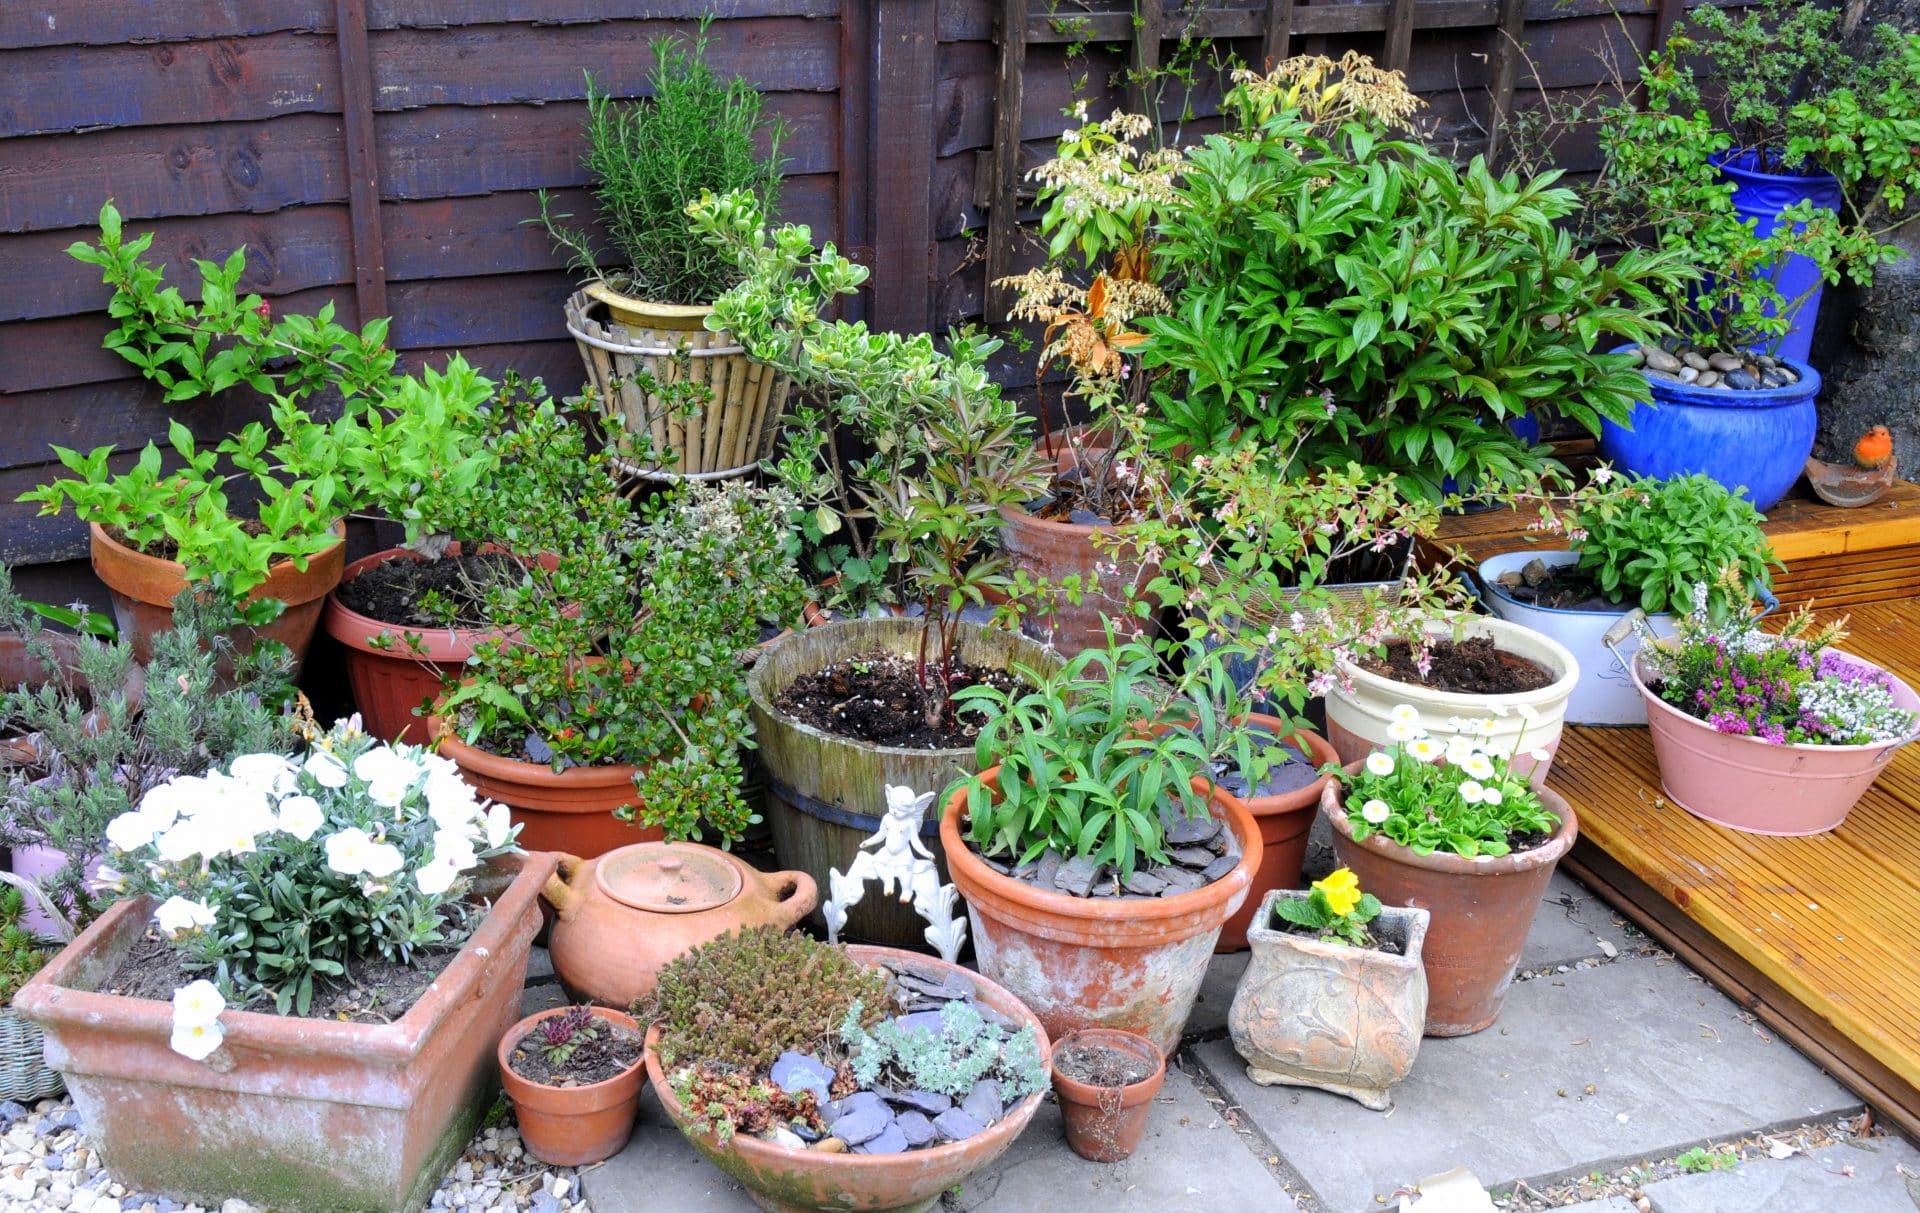
M766 211L780 203L785 125L760 121L760 94L751 83L722 81L708 67L708 21L691 42L678 35L653 42L653 96L614 102L588 73L584 163L620 261L616 276L632 294L664 303L710 303L739 280L733 259L687 221L689 203L733 190L745 190ZM755 148L762 127L766 157ZM559 225L570 215L553 215L545 190L540 219L555 246L572 255L572 269L603 276L591 238Z

